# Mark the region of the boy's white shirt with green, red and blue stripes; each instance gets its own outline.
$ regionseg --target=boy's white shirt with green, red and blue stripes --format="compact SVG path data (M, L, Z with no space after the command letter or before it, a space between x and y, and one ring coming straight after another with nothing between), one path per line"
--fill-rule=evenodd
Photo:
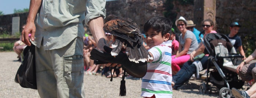
M171 41L163 42L148 50L153 55L153 62L148 63L146 75L142 78L141 96L172 98Z

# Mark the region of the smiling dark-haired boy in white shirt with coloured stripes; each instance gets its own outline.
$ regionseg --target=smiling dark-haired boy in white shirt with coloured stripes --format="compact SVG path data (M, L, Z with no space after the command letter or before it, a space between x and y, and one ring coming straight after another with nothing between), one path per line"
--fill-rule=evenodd
M153 57L147 65L147 73L142 78L141 96L144 98L172 97L171 43L172 22L163 16L156 16L144 24L145 42Z

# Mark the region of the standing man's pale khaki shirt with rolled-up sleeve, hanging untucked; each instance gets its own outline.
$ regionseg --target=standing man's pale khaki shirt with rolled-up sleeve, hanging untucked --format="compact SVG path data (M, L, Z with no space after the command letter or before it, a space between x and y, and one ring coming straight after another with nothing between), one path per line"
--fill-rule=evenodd
M105 18L105 0L42 0L41 9L36 19L35 41L38 48L45 50L59 49L69 44L74 38L83 38L86 6L86 24L90 19ZM89 16L88 16L89 15Z

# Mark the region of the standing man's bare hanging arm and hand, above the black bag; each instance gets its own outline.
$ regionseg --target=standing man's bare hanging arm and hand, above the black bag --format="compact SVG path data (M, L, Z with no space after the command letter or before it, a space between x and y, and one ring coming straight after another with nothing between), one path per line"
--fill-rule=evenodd
M34 41L36 26L35 19L38 10L41 8L42 0L30 0L29 15L27 17L27 24L22 31L22 42L26 45L31 45L29 41L29 33L31 33L31 40Z

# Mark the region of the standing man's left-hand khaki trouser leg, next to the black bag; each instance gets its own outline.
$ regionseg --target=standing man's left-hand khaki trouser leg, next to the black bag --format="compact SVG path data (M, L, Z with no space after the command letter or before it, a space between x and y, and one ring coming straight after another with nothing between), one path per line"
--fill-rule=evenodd
M35 48L37 91L41 98L57 98L56 78L52 68L52 57L48 50Z

